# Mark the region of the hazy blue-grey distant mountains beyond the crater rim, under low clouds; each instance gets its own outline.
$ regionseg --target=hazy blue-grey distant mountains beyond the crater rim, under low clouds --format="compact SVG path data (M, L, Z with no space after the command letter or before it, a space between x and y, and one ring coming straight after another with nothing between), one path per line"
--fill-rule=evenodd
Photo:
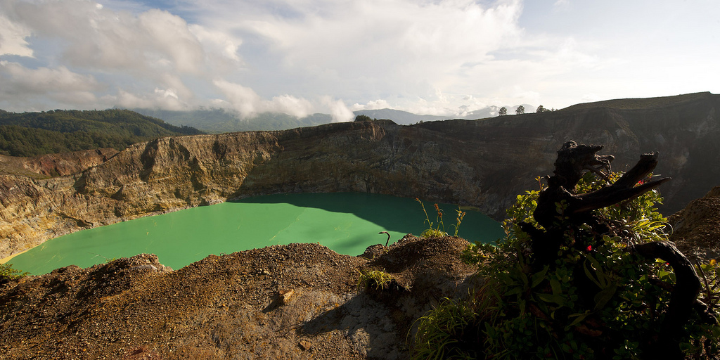
M521 105L513 107L505 107L508 114L515 114L516 109ZM535 108L530 104L522 104L526 112L535 112ZM394 109L376 109L376 110L358 110L354 112L357 115L366 115L373 119L387 119L399 125L411 125L418 122L437 121L437 120L477 120L487 117L498 116L500 107L485 107L467 114L459 116L438 116L438 115L419 115L412 112L405 112ZM279 112L264 112L257 114L255 117L240 119L238 114L226 109L197 109L192 111L170 111L157 109L132 109L145 116L156 117L168 124L177 126L195 127L204 132L222 133L236 131L269 131L269 130L287 130L296 127L307 127L315 125L323 125L333 122L330 114L312 114L307 117L294 117L289 114Z

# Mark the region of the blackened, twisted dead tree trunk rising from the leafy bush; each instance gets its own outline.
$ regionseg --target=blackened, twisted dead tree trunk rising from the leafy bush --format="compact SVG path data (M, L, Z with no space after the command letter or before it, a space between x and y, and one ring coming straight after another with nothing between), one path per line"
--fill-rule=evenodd
M589 225L595 234L608 233L610 229L593 215L593 210L633 199L670 180L665 178L637 185L657 166L657 153L649 153L642 155L638 163L614 184L596 192L574 194L573 189L585 171L592 171L601 178L608 179L610 163L614 157L597 155L602 148L603 146L577 145L569 141L557 152L554 175L547 178L548 188L541 192L533 214L545 230L538 230L529 224L521 225L531 236L531 251L536 269L554 264L559 246L569 230L580 231L580 225L585 224ZM558 220L559 215L563 218L562 225ZM575 247L585 247L581 239L582 237L575 238ZM656 355L662 354L662 359L683 359L679 346L680 338L683 325L688 322L690 311L696 304L701 288L700 279L688 258L670 242L642 243L634 247L634 252L647 261L661 258L675 271L676 284L672 289L662 324L662 335L648 348Z

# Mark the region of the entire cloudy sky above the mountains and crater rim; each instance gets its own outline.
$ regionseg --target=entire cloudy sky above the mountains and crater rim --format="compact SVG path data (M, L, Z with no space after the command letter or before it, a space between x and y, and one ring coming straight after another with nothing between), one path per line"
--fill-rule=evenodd
M720 93L717 0L0 0L0 109L458 115Z

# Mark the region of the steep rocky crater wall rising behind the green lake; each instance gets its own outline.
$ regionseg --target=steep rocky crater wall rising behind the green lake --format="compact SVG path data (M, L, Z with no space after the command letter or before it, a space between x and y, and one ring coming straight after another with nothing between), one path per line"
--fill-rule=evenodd
M400 126L349 122L161 138L70 176L0 176L0 256L81 228L282 192L375 192L474 205L496 218L552 171L567 140L606 145L624 170L660 151L665 212L720 179L720 96Z

